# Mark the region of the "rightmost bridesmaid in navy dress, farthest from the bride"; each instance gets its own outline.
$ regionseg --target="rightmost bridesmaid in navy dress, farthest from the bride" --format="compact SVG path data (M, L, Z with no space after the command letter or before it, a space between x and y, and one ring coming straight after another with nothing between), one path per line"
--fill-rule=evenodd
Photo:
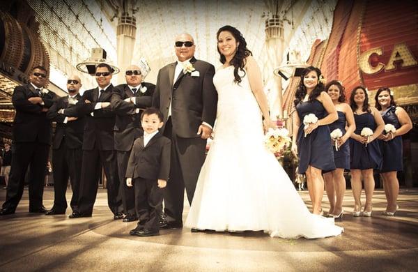
M403 171L402 137L412 128L412 121L405 109L396 107L394 96L389 88L378 89L375 96L376 108L380 110L385 124L392 124L396 130L394 133L383 132L379 135L380 151L383 163L380 176L387 199L385 216L394 216L398 205L396 201L399 193L399 182L396 176L398 171Z

